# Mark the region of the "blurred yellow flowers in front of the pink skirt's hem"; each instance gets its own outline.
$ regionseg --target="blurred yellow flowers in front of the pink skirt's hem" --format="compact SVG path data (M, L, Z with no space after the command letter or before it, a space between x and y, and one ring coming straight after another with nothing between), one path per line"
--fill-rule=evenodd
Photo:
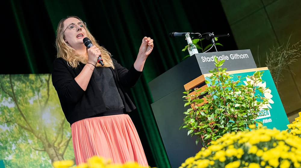
M69 168L74 165L73 161L55 161L54 168ZM140 166L138 163L112 164L110 160L94 156L89 158L87 163L80 164L75 168L148 168Z

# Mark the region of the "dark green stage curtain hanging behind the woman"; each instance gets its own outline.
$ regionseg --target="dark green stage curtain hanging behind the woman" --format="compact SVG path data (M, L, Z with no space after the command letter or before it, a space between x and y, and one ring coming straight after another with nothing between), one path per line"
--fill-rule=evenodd
M216 11L212 11L210 7L205 9L200 2L187 4L180 0L11 0L5 3L9 8L5 22L9 26L5 28L8 33L4 37L6 44L10 46L10 52L4 58L8 64L1 67L2 74L51 73L52 61L56 55L54 42L57 23L66 16L74 15L83 19L99 44L105 46L113 58L127 68L134 63L142 38L153 38L154 50L147 58L143 75L130 92L137 107L131 117L150 166L170 167L151 110L153 100L148 82L188 55L188 52L181 51L187 45L185 38L169 38L169 32L203 33L202 31L208 30L207 32L217 31L220 34L231 33L219 1L210 2L212 4L202 2L208 6L216 5ZM214 13L219 14L213 20L210 17ZM222 20L223 27L215 24L218 20ZM228 40L228 43L229 47L221 50L236 49L233 39Z

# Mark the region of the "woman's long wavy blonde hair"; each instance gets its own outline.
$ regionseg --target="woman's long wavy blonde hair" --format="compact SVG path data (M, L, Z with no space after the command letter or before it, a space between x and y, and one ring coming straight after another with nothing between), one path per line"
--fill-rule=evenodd
M79 19L82 22L82 19L77 16L68 16L67 18L61 19L57 26L57 37L55 40L55 45L57 49L57 58L63 58L71 67L76 68L79 65L79 62L87 64L88 59L85 55L76 54L75 49L73 49L64 40L64 30L66 29L66 27L64 27L64 21L71 17ZM113 61L110 57L110 52L108 52L107 49L105 49L103 46L100 46L96 42L93 35L89 32L87 26L85 26L85 30L87 32L87 37L92 41L92 44L97 46L97 48L99 48L99 50L101 51L101 58L103 59L104 66L101 66L101 64L97 63L96 67L112 67L114 69Z

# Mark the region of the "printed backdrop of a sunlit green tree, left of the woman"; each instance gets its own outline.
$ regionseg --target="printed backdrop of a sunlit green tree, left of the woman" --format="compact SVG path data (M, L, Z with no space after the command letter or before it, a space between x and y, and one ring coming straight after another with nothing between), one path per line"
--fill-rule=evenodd
M51 167L73 160L70 124L51 74L0 75L0 161L5 167Z

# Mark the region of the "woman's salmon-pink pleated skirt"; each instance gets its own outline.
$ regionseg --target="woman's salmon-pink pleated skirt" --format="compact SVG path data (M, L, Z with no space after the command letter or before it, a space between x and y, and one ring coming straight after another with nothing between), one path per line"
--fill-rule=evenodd
M76 165L100 156L113 163L148 167L140 138L127 114L82 119L71 125Z

